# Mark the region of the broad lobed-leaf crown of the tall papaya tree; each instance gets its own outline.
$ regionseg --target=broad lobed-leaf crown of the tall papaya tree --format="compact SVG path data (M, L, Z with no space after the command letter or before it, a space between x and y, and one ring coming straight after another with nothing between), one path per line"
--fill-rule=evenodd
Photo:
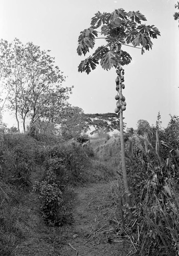
M117 68L119 63L122 66L128 65L132 58L126 51L121 50L121 46L140 48L142 54L145 50L152 49L151 39L157 38L160 32L154 25L141 24L146 20L139 11L126 12L122 8L112 13L98 11L91 19L91 27L80 32L77 53L85 56L90 48L94 48L96 39L99 38L105 39L106 45L98 47L93 55L82 60L78 71L89 74L99 61L105 70ZM104 37L98 37L98 34Z

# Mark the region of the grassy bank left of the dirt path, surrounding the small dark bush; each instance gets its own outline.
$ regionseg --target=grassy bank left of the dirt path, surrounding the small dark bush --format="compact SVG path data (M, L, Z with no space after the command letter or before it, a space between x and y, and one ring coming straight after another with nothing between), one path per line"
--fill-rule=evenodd
M73 223L73 187L106 181L115 175L117 162L113 162L114 156L110 158L113 153L109 152L113 149L107 146L109 140L105 138L103 156L99 157L95 155L93 143L83 148L80 143L62 139L38 137L37 140L26 134L1 134L0 255L32 255L24 243L31 243L30 237L41 237L42 234L45 239L50 237L51 248L64 243L70 234L68 226ZM44 223L40 210L42 201L33 190L35 181L47 180L48 184L53 184L48 180L48 170L56 175L55 182L62 192L58 227L55 223ZM39 248L37 255L45 249L48 252L48 243Z

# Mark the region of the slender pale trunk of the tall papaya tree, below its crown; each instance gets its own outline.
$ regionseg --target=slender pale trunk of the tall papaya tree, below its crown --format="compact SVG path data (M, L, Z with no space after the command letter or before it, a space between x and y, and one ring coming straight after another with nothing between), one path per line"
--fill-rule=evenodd
M119 76L119 80L121 80L121 75ZM119 97L120 97L120 104L122 106L122 85L119 84ZM129 206L132 206L131 198L130 198L130 189L128 185L128 179L127 179L127 170L126 170L126 161L125 161L125 143L124 143L124 127L123 127L123 111L120 108L119 112L120 116L120 140L121 140L121 161L122 161L122 172L123 172L123 182L124 182L124 188L125 188L125 194L127 203Z

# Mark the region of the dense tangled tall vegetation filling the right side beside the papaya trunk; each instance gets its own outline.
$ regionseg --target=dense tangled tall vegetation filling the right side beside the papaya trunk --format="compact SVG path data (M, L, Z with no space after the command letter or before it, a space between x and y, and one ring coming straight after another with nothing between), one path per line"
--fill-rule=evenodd
M177 255L179 251L178 120L171 116L167 128L159 129L159 118L149 134L132 135L128 140L133 207L120 207L124 230L138 255Z

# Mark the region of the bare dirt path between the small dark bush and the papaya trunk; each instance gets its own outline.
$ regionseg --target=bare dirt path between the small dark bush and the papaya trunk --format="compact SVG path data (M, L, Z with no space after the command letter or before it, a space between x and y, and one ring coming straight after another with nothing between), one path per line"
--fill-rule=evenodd
M110 182L75 189L74 225L71 239L61 248L62 256L123 256L123 239L116 241L111 221ZM113 242L115 241L115 242Z

